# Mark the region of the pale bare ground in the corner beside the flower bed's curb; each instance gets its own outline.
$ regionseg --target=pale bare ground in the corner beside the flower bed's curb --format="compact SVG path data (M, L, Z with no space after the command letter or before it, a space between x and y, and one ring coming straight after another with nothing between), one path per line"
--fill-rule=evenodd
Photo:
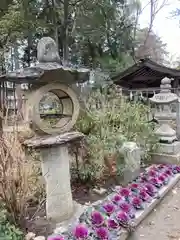
M139 225L129 240L180 240L180 182Z

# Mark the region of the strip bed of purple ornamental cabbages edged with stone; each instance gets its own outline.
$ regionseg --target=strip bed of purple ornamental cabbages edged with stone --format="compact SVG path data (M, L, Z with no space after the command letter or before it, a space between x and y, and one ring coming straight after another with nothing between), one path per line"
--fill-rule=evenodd
M89 207L62 236L48 240L115 240L122 229L132 230L139 213L180 173L180 166L153 165L127 187L117 186L101 203Z

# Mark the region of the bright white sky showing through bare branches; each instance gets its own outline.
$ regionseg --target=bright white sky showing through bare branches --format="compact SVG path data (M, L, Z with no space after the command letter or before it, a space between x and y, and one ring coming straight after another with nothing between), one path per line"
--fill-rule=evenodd
M160 3L162 1L159 0ZM141 2L143 7L149 0L141 0ZM178 7L180 8L179 0L169 0L169 4L161 9L153 24L154 32L162 38L164 43L167 43L167 50L174 61L180 57L180 24L177 18L171 17L171 12ZM146 7L141 14L139 19L140 26L142 28L147 27L149 19L150 6Z

